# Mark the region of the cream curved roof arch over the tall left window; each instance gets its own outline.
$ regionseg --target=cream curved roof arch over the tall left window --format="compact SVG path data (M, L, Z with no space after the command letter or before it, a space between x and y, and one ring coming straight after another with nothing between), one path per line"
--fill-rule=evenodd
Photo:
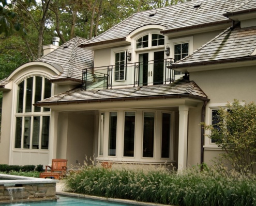
M45 68L46 70L42 71L41 68ZM33 62L28 62L20 67L18 67L16 70L14 70L7 80L12 80L13 78L19 76L22 72L26 70L35 70L38 72L44 72L44 73L49 73L49 75L56 76L56 75L61 75L63 73L63 68L57 64L52 64L52 63L46 63L46 62L41 62L41 61L33 61Z

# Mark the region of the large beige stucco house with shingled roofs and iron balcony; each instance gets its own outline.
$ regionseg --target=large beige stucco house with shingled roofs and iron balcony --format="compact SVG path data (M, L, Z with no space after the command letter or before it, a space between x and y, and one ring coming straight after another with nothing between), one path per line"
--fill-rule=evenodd
M256 100L255 49L255 0L143 11L75 38L0 82L0 163L211 164L221 150L200 123Z

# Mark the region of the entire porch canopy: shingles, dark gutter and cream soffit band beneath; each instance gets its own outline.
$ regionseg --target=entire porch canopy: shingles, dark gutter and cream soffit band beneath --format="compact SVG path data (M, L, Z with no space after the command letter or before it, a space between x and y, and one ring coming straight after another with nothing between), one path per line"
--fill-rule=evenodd
M172 101L170 101L172 99ZM150 101L148 101L150 100ZM35 106L49 108L77 107L87 109L121 107L168 107L178 105L196 106L198 102L209 100L194 81L179 79L171 84L144 87L117 88L107 90L73 89L48 99ZM104 104L102 104L104 102Z

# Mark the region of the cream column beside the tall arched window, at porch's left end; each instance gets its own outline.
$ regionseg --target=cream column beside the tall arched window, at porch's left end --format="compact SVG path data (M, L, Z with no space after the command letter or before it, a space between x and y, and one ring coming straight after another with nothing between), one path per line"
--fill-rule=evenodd
M57 154L57 132L58 132L58 112L51 111L50 136L49 136L49 163L56 158Z

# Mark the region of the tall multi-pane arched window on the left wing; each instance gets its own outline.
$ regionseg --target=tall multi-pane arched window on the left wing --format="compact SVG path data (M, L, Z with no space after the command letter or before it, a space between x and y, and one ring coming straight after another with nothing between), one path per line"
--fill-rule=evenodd
M28 77L18 84L14 148L48 149L50 109L33 104L50 96L51 83L45 77Z

